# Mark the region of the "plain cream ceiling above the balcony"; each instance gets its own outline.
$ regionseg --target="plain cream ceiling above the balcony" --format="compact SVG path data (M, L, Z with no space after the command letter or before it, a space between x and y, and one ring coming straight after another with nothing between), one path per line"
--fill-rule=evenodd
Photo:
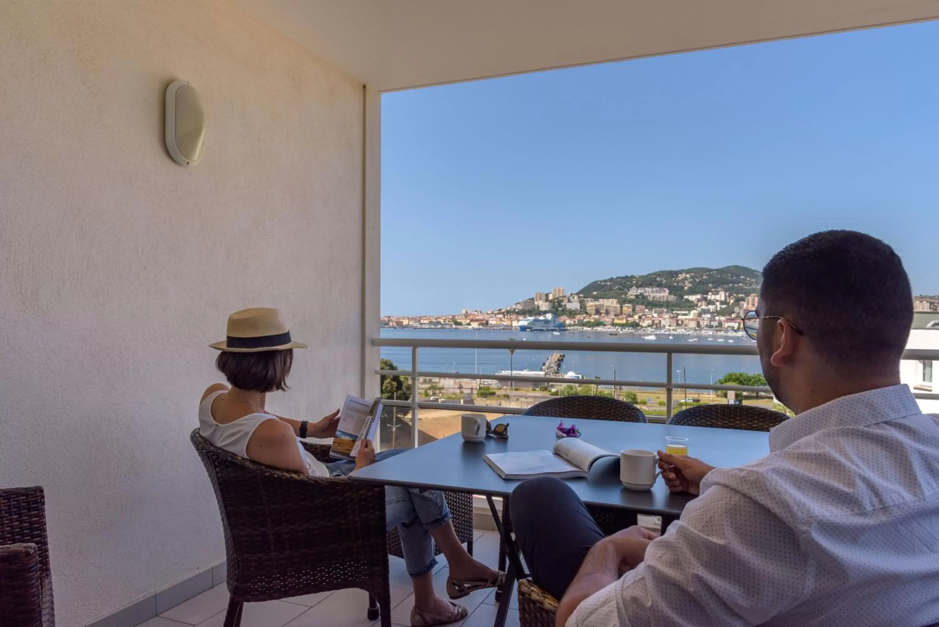
M939 18L939 0L235 0L380 90Z

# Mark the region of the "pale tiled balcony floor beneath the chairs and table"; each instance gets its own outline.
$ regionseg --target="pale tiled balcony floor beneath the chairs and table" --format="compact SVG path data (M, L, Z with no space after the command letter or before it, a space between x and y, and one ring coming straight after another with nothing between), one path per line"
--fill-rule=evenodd
M492 531L478 532L473 542L473 555L495 568L499 558L499 536ZM438 556L439 566L434 574L434 587L440 596L446 597L447 565ZM389 557L392 590L392 622L395 625L410 625L410 610L413 606L413 591L404 560ZM508 627L518 626L518 603L513 594L510 604ZM495 591L479 590L457 603L469 609L465 627L489 627L496 619ZM149 619L139 627L222 627L225 608L228 606L228 590L225 585L216 586L189 601L179 603L155 619ZM245 603L241 615L241 627L372 627L379 625L366 618L368 595L359 589L337 590L307 594L302 597L269 601L267 603ZM459 624L459 623L453 623Z

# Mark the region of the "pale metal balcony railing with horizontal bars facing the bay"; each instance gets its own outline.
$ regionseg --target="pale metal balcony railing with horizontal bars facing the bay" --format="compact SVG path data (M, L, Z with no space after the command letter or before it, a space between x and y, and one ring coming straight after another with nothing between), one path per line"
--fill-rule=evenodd
M504 339L435 339L430 337L377 337L372 340L373 346L393 346L398 348L410 348L411 350L411 369L409 370L382 370L377 369L375 373L378 376L402 376L410 377L412 385L411 400L384 400L382 404L386 407L405 407L411 412L411 424L418 424L418 413L421 409L449 409L454 411L465 411L467 405L459 403L446 403L437 401L421 401L418 394L418 382L422 378L447 378L447 379L469 379L485 381L508 381L514 383L538 383L538 384L571 384L578 380L565 377L524 377L512 374L475 374L472 372L431 372L422 371L419 365L421 349L486 349L486 350L511 350L511 351L546 351L563 353L665 353L666 372L665 381L625 381L623 379L589 379L585 380L592 385L613 385L621 387L662 387L666 393L666 415L668 420L672 411L672 394L678 389L693 390L727 390L737 392L762 392L772 394L769 387L752 385L721 385L721 384L696 384L685 383L676 385L672 380L672 355L674 354L700 354L700 355L757 355L757 347L753 344L743 344L740 346L723 346L702 344L689 346L685 344L632 344L626 342L577 342L577 341L551 341L551 340L528 340L524 344L518 341ZM939 351L913 349L903 352L903 359L926 359L939 361ZM927 392L915 392L917 399L939 400L939 394ZM481 414L521 414L525 410L520 407L501 407L497 405L473 405L472 411ZM419 429L412 429L412 446L418 446Z

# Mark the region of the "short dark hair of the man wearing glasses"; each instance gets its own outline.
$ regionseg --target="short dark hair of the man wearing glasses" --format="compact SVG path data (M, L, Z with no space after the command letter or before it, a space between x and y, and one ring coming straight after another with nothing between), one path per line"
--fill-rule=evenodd
M786 317L838 366L899 361L913 324L900 256L856 231L827 230L789 244L763 268L760 293L761 315Z

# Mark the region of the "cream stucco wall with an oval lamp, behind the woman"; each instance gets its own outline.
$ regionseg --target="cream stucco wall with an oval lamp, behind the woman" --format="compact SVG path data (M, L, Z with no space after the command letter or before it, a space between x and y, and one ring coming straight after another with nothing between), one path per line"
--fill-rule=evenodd
M173 79L201 164L162 144ZM270 405L361 388L362 86L225 0L0 3L0 486L45 487L57 622L224 558L189 443L207 344L280 306L298 352Z

